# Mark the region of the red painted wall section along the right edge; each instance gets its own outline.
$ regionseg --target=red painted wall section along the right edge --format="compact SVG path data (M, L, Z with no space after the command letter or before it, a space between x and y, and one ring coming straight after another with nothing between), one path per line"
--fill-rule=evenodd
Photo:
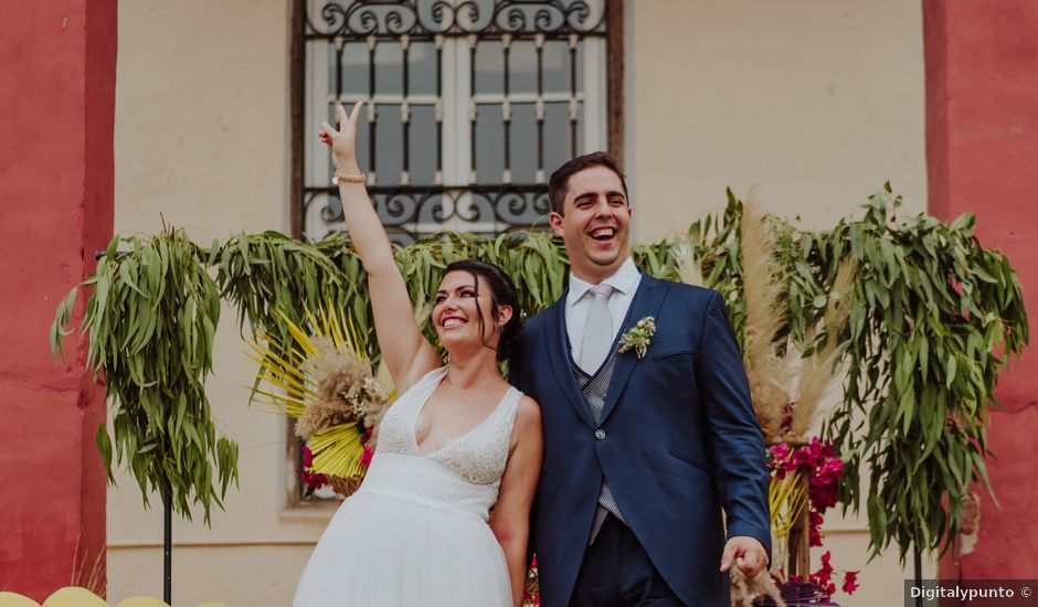
M1038 3L924 0L930 212L977 215L977 236L1019 274L1038 339ZM978 489L973 552L943 578L1038 578L1038 353L1004 373L988 461L1002 509Z

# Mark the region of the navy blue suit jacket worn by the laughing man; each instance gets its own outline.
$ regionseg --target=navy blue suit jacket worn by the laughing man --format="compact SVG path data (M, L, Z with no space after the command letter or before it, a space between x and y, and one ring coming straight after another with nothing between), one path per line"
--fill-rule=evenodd
M570 366L564 306L565 294L527 321L510 362L544 428L531 520L541 604L572 596L604 476L675 594L728 605L722 508L729 537L755 537L770 552L771 535L764 443L720 295L643 274L618 334L654 317L656 336L642 359L617 354L597 425Z

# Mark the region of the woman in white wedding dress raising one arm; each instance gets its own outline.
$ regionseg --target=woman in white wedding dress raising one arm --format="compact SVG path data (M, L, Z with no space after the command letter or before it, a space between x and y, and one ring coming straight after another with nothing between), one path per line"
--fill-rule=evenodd
M518 338L516 288L500 268L447 266L432 320L444 365L422 336L357 163L357 120L337 106L331 147L342 212L368 271L382 355L400 397L379 427L360 489L339 508L294 607L518 606L541 469L537 403L498 372ZM491 512L492 508L492 512Z

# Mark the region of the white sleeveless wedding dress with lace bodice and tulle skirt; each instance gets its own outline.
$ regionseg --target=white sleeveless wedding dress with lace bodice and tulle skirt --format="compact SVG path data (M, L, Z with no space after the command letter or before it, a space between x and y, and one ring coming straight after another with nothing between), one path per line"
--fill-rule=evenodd
M423 456L415 422L445 375L430 372L386 412L364 481L325 530L294 607L511 605L487 519L521 393L510 388L476 428Z

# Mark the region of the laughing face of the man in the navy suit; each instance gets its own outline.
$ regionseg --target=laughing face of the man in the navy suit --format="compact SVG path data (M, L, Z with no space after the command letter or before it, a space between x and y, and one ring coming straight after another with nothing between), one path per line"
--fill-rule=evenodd
M631 204L619 177L605 167L573 173L562 213L552 213L549 221L581 280L597 284L627 259Z

